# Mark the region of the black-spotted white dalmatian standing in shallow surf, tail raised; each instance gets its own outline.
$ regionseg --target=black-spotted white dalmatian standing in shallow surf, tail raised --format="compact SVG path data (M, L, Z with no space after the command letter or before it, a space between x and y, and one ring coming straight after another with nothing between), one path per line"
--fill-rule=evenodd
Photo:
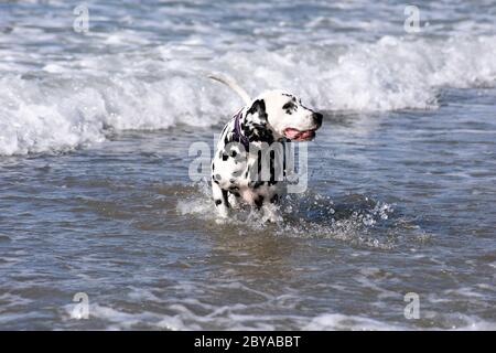
M226 84L246 104L225 125L212 160L212 192L219 220L227 218L229 210L248 204L262 211L263 221L279 222L277 203L285 193L287 143L312 140L322 126L322 114L281 89L250 99L233 79L208 77Z

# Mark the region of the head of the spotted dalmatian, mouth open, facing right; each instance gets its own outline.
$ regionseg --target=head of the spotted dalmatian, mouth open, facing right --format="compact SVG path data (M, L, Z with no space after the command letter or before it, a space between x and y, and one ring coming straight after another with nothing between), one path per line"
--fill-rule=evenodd
M284 90L269 90L258 96L247 110L250 140L309 141L322 125L322 114L302 105L294 95ZM268 136L269 135L269 136ZM270 136L271 135L271 136Z

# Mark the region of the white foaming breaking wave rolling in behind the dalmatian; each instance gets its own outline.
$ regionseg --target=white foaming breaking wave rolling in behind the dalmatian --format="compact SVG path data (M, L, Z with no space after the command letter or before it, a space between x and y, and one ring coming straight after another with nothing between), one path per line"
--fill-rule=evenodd
M72 150L115 130L219 124L241 101L205 78L208 72L235 77L252 95L287 88L319 109L433 109L440 87L494 86L494 57L496 36L384 36L375 43L218 55L168 44L139 54L48 62L24 73L3 65L0 154Z

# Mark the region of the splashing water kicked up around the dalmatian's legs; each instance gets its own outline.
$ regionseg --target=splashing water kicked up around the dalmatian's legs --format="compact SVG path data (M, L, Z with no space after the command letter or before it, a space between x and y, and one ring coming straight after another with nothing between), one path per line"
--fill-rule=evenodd
M418 226L395 214L391 204L368 196L353 194L333 199L320 193L290 194L279 205L283 221L266 223L261 212L249 207L235 210L228 220L219 224L213 208L207 182L201 182L177 201L176 212L183 216L203 218L213 228L263 232L269 236L335 239L351 245L378 249L391 249L398 245L399 231Z

